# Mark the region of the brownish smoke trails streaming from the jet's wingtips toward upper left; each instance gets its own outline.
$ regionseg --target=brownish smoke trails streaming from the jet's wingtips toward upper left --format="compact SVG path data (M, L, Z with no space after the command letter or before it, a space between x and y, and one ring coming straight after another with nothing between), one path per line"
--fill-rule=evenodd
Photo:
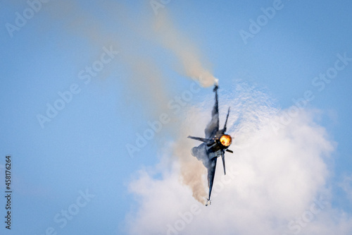
M172 114L168 108L168 102L172 100L172 96L165 89L165 75L160 69L160 64L144 53L145 40L148 38L156 40L158 46L168 49L180 62L179 72L198 80L203 87L213 85L216 81L215 77L208 68L203 66L203 56L196 45L176 29L166 11L159 13L151 21L136 22L126 13L128 9L122 4L108 2L101 6L112 22L120 23L118 27L106 30L104 22L97 19L94 14L84 11L77 1L55 2L52 6L48 6L46 11L51 20L61 22L63 30L68 32L68 35L82 37L94 48L111 45L113 49L120 52L118 61L130 72L130 76L121 81L126 88L122 97L146 104L142 106L148 107L145 112L148 112L151 119L158 119L162 113L170 114L173 123L168 126L170 128L164 128L164 131L178 136L172 153L180 161L180 181L191 188L196 200L204 204L206 168L190 154L191 147L194 146L185 136L191 131L186 127L179 131L179 116ZM122 29L125 29L124 33L118 34ZM149 35L151 32L153 32L152 36ZM196 118L198 119L199 116L197 115ZM175 121L178 123L176 124Z

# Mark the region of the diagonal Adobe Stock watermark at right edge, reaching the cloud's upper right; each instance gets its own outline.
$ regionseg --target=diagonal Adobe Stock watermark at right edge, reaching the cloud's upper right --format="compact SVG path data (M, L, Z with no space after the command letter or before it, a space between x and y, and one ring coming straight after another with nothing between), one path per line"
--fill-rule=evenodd
M333 66L327 68L324 73L319 73L318 76L312 79L311 84L316 90L318 90L318 92L325 90L326 85L337 78L339 72L343 71L348 64L352 62L352 57L348 57L347 52L344 52L344 54L337 54L336 56L337 60L334 62ZM315 95L313 90L306 90L303 92L303 97L292 99L294 105L289 107L287 111L282 112L282 115L279 117L279 121L272 121L272 130L277 133L280 129L285 128L285 126L289 125L289 123L291 123L291 121L298 116L301 110L307 107L308 102L311 102L314 99Z

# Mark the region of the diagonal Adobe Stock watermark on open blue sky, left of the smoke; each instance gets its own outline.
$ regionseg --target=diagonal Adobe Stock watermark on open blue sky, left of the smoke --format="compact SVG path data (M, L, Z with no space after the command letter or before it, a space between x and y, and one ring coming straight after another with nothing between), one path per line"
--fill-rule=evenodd
M113 49L113 46L110 46L109 49L103 47L103 53L101 54L100 59L94 61L91 66L85 66L84 69L78 72L77 78L82 80L84 85L88 85L91 83L92 78L98 76L98 74L103 71L103 68L113 61L117 54L118 52ZM54 102L46 103L45 114L37 114L39 125L44 128L44 124L51 122L59 112L65 109L67 104L70 104L70 102L73 101L74 95L79 94L81 91L82 85L80 86L77 83L73 83L67 90L57 92L58 99Z

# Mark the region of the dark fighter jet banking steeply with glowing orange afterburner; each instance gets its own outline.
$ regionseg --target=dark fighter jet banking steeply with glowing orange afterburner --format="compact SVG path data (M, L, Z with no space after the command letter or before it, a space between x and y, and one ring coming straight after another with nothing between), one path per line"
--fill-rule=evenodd
M198 147L193 147L191 149L191 154L203 162L204 166L208 169L209 196L207 198L206 205L208 205L208 203L211 204L210 195L211 190L213 189L216 160L221 156L222 166L224 167L224 174L226 174L225 152L233 153L232 150L227 149L232 143L232 138L230 135L225 133L227 119L229 118L230 114L230 107L227 112L224 128L219 129L218 88L218 80L216 80L215 87L213 89L213 92L215 92L215 104L213 111L211 112L211 121L208 123L208 126L206 126L206 138L194 137L190 135L188 136L188 138L203 142Z

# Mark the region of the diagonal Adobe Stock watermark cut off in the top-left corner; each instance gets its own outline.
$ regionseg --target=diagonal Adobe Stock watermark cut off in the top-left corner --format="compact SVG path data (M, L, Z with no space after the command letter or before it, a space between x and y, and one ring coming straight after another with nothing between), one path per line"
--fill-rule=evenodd
M27 21L32 19L34 15L42 9L43 4L47 4L49 1L50 0L27 0L28 7L25 8L22 13L19 13L18 11L15 12L14 24L5 24L8 35L12 38L13 32L18 32L21 28L25 27Z

